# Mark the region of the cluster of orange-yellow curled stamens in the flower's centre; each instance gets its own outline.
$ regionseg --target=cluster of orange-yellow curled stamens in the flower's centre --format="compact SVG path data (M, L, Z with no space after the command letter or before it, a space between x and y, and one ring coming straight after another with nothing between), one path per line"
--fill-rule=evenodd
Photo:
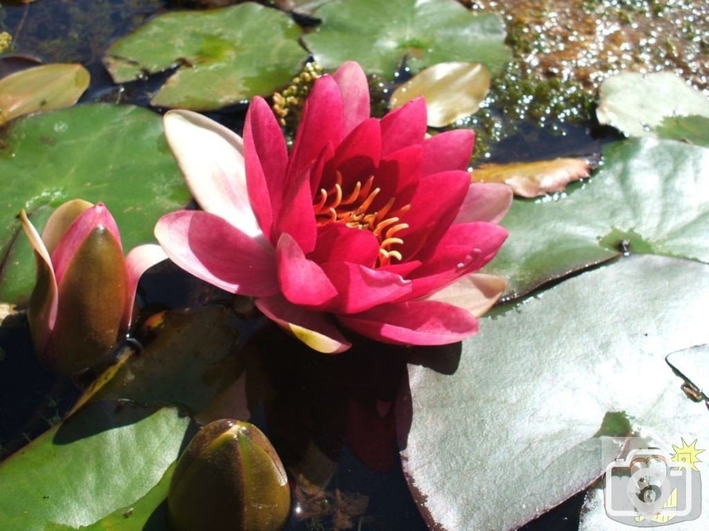
M393 250L394 245L402 245L401 237L396 237L396 233L408 228L408 223L399 223L401 216L411 209L411 205L405 205L391 212L396 202L392 197L387 203L377 211L370 212L374 199L379 195L381 189L372 189L374 175L370 175L367 181L357 181L354 189L345 197L342 194L342 174L337 172L335 186L330 190L321 188L313 204L318 226L328 225L328 223L344 223L347 227L361 230L369 230L376 240L379 241L379 255L376 259L378 267L391 264L392 259L401 261L401 252Z

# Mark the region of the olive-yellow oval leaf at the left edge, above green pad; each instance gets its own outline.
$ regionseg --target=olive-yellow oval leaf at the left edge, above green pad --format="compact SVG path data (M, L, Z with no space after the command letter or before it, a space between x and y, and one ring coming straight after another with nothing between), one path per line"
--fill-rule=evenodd
M0 79L0 125L37 111L77 103L91 76L82 65L32 67Z

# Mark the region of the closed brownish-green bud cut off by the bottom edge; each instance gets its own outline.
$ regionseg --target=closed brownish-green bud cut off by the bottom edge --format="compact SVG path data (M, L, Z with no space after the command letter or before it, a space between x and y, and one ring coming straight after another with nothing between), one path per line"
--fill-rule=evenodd
M174 531L278 531L291 491L261 430L223 419L203 427L179 458L167 506Z

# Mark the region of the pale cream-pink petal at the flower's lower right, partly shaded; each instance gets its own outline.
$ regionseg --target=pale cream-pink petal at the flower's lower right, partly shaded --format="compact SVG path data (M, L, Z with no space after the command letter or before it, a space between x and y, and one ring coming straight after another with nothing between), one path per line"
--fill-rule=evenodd
M469 274L426 298L464 308L476 317L492 308L507 289L507 281L501 276Z

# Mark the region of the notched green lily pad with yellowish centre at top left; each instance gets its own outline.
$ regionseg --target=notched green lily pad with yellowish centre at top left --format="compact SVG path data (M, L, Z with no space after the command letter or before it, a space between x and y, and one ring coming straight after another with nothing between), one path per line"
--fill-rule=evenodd
M252 2L167 13L113 43L104 64L116 83L179 67L150 103L206 111L288 84L308 57L301 33L286 13Z

